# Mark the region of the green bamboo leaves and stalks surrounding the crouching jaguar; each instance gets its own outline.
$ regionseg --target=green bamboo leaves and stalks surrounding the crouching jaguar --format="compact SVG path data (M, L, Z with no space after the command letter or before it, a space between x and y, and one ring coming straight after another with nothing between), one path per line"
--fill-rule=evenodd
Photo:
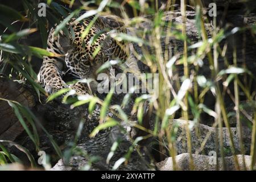
M204 23L208 20L205 19L205 16L202 15L203 7L201 6L200 1L195 1L196 12L196 26L198 32L200 32L199 42L193 42L189 40L186 35L186 24L175 24L171 21L164 21L164 11L174 10L172 1L167 1L165 9L158 9L155 7L154 3L151 5L148 2L145 2L143 5L140 5L141 1L129 1L129 6L132 8L134 17L128 18L126 11L123 6L118 5L118 2L115 1L92 1L83 2L83 5L80 7L73 7L75 1L42 1L47 5L47 15L39 17L38 2L32 0L23 0L23 7L17 11L11 7L0 5L0 16L5 17L5 19L0 18L0 24L6 27L6 30L1 32L1 42L0 42L0 74L9 76L10 80L18 80L24 84L31 85L38 97L42 94L46 94L44 89L40 84L38 84L36 72L34 67L35 56L39 57L42 60L44 55L47 56L61 56L48 52L47 47L47 31L49 27L57 24L56 34L60 30L63 30L65 34L69 34L68 27L66 26L67 22L75 17L76 21L79 22L89 16L97 17L98 15L111 14L113 9L119 9L121 11L121 19L125 21L127 27L140 27L142 23L151 24L150 29L144 29L143 31L131 31L130 34L113 34L112 38L118 41L125 41L127 43L137 44L142 48L142 53L134 53L134 55L139 58L144 64L146 64L151 73L159 73L159 82L158 88L159 93L158 97L155 92L144 94L138 97L135 100L133 106L133 113L137 113L138 123L134 123L130 120L130 113L125 113L122 109L123 106L129 102L130 94L126 94L123 98L123 101L120 105L111 105L110 101L112 100L113 93L110 92L106 96L105 100L102 101L97 96L84 96L78 97L76 102L68 102L68 97L75 94L70 89L60 90L57 93L52 94L48 97L47 101L52 101L56 97L63 96L63 103L71 104L71 109L77 106L81 106L89 103L89 112L92 113L95 105L100 104L101 113L100 113L100 125L97 126L90 137L94 137L100 130L108 129L109 127L118 126L119 121L115 121L113 118L106 117L108 111L115 114L120 121L125 121L131 123L131 126L137 127L143 131L146 131L148 135L145 137L138 137L134 139L133 144L130 146L129 151L121 159L115 162L113 169L118 169L118 167L125 162L129 162L129 158L132 151L136 151L139 146L139 141L148 138L156 137L159 139L161 146L165 146L168 150L168 155L174 157L176 155L175 142L176 142L176 133L175 125L172 125L174 118L180 118L184 121L193 121L195 125L201 123L200 115L206 113L214 118L213 126L222 127L223 123L225 127L230 129L229 117L227 106L225 104L225 96L230 96L233 98L234 106L238 108L234 110L237 115L238 126L241 126L243 122L242 113L246 113L246 110L242 109L240 106L240 96L239 93L243 93L246 96L246 103L253 103L255 107L255 91L251 92L251 81L255 79L255 75L252 75L246 67L239 67L237 65L236 56L233 57L233 61L230 63L226 62L225 68L218 70L218 60L221 59L227 60L225 57L224 48L220 46L220 42L225 41L229 36L232 36L236 33L236 30L227 31L228 28L219 28L214 24L213 32L210 34L205 30ZM184 2L184 1L181 1ZM94 5L89 6L89 5ZM96 5L96 6L95 6ZM185 6L183 6L185 7ZM86 13L79 15L82 10L87 10ZM185 9L181 9L181 14L185 18ZM144 16L148 15L148 16ZM216 19L214 19L216 22ZM92 22L93 24L93 22ZM255 36L255 26L246 27L240 31L246 31L251 28L251 33ZM173 30L173 31L170 31ZM85 30L88 31L88 30ZM253 32L254 31L254 32ZM28 36L33 34L39 34L41 42L37 47L27 46L26 39ZM86 32L83 36L86 35ZM165 36L164 36L165 35ZM212 36L209 36L212 35ZM145 39L146 36L149 36L148 39ZM161 37L164 36L164 42L167 43L165 49L162 47ZM180 42L183 42L183 51L179 51L174 45L174 52L170 56L168 52L168 43L170 38L175 38ZM150 47L151 52L147 51L147 48ZM236 49L234 49L234 55L236 55ZM210 77L205 77L200 74L200 69L202 67L207 67L205 65L205 60L209 60L209 70ZM106 63L105 67L109 67L111 64ZM183 67L183 77L175 75L175 71L179 66ZM102 68L100 68L102 69ZM247 76L245 76L247 74ZM240 77L241 75L241 77ZM243 79L249 79L245 81ZM221 84L223 83L223 84ZM228 86L233 85L234 94L228 92ZM175 89L176 88L176 89ZM224 91L222 91L224 90ZM208 92L212 92L215 99L216 105L215 110L210 109L207 105L204 104L205 97ZM0 98L4 100L3 98ZM40 150L39 136L36 131L35 125L40 125L38 119L35 115L23 107L17 102L5 100L9 102L10 107L13 108L17 118L24 127L26 133L30 139L34 142L37 150ZM154 131L144 128L142 125L143 119L143 105L147 103L149 107L154 107ZM255 110L255 108L254 108ZM253 117L249 119L250 126L253 130L253 140L251 143L251 156L253 156L252 164L255 164L256 161L256 115L254 113ZM240 121L241 119L241 121ZM247 118L248 119L248 118ZM29 125L27 124L28 121ZM223 121L223 123L222 123ZM64 152L60 150L60 147L57 146L54 139L47 133L43 126L41 125L44 132L47 133L47 136L51 140L53 147L56 150L56 154L60 158L68 159L72 154L79 154L85 156L90 161L89 166L85 166L84 169L89 169L93 162L96 162L97 159L95 156L89 156L86 154L86 151L81 151L77 148L77 140L81 135L81 129L84 121L81 121L79 128L77 129L75 140L72 143L72 147L69 150ZM32 131L31 131L32 128ZM238 127L239 132L242 133L241 127ZM232 133L230 130L230 138L232 138ZM189 127L187 127L187 146L188 152L191 154L191 139L189 137ZM233 141L230 141L230 150L234 158L236 158L236 151L234 148ZM33 156L28 152L24 147L19 146L13 142L2 141L0 140L0 147L2 151L0 152L0 165L5 165L7 163L19 162L20 160L16 158L13 154L10 154L9 151L3 146L3 144L11 143L14 144L19 150L25 152L30 159L31 166L35 167L35 160ZM115 141L109 151L107 163L114 155L114 152L117 150L118 145L121 141ZM220 142L222 143L222 142ZM241 144L243 141L241 140ZM226 151L224 146L220 146L223 155ZM159 151L160 153L162 151ZM244 151L242 151L244 154ZM191 160L192 161L192 160ZM237 162L237 160L236 160ZM237 164L238 165L238 164ZM252 165L254 166L254 165ZM237 168L239 168L237 166Z

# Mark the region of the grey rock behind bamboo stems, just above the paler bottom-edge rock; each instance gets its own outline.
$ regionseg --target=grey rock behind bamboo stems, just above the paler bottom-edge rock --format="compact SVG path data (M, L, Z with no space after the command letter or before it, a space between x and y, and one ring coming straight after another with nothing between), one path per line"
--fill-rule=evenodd
M187 122L181 121L179 119L174 121L174 125L178 127L177 130L177 142L176 150L177 154L182 154L187 151L187 137L185 135L185 127ZM209 154L210 151L216 151L216 139L220 140L218 136L218 128L209 127L207 125L195 125L194 122L188 122L190 131L191 131L191 142L192 142L192 154ZM234 147L236 148L237 154L241 154L241 149L239 145L238 131L236 127L230 128ZM243 130L243 143L245 144L245 154L250 154L250 144L251 144L251 131L246 127L242 128ZM232 155L232 149L230 146L230 137L228 129L226 127L222 128L223 136L223 145L224 145L224 154L225 156ZM205 142L204 147L201 147L203 142ZM218 148L220 146L217 146ZM201 150L203 148L203 150ZM218 152L220 154L220 152Z

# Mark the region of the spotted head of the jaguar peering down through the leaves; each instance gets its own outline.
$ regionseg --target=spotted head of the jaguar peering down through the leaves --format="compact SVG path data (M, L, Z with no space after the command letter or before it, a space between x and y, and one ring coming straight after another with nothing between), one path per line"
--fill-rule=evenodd
M110 75L109 69L99 72L99 68L109 61L111 57L111 42L101 35L93 43L86 42L84 45L77 44L69 49L65 55L65 62L68 69L80 79L94 80L97 84L98 74L104 72Z

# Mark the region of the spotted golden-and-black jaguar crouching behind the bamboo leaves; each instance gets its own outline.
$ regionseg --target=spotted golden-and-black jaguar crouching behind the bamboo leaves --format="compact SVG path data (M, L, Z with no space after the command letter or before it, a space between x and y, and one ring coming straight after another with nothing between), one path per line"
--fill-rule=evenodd
M82 22L75 22L75 19L72 19L67 23L69 35L65 35L63 31L55 35L55 28L49 31L47 51L63 56L44 56L39 72L39 81L43 84L46 92L53 93L71 87L79 94L88 93L87 84L77 82L67 85L63 81L63 73L70 71L76 78L96 80L97 69L106 61L127 59L129 48L122 42L116 42L108 35L111 30L126 32L123 24L112 17L99 16L93 26L90 27L88 34L82 39L81 35L92 19L93 17L84 19ZM92 43L93 38L96 40ZM98 52L95 53L97 50ZM94 88L93 84L90 86Z

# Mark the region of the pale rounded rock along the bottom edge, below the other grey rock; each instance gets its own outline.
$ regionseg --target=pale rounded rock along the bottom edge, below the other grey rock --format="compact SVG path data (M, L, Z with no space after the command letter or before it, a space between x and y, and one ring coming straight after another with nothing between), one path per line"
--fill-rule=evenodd
M251 156L245 155L244 157L245 157L246 170L250 170ZM196 155L196 154L192 154L192 158L193 158L193 167L194 167L193 170L195 171L223 170L222 158L214 158L214 156ZM243 169L242 155L237 155L237 159L238 159L238 164L240 166L240 169ZM181 171L190 170L189 160L190 160L190 157L188 153L177 155L175 157L177 170L181 170ZM216 163L214 162L214 160ZM225 157L224 160L226 164L226 170L229 170L229 171L236 170L233 156ZM217 168L217 162L218 162L218 168ZM172 158L166 158L164 161L157 163L156 167L160 171L173 171L174 170L173 160Z

